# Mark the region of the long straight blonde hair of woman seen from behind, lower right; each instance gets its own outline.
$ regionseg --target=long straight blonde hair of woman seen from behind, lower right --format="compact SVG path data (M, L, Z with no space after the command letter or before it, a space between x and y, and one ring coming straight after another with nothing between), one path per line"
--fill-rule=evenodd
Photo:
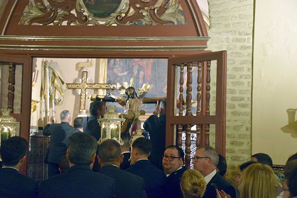
M276 198L277 180L269 165L255 163L243 172L239 191L241 198Z

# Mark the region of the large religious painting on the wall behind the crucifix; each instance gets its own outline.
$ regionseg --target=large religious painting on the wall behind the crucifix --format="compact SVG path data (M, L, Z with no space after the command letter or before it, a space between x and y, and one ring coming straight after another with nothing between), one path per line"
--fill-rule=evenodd
M134 88L141 88L144 83L150 85L150 91L145 97L166 97L167 92L167 59L164 58L113 58L107 59L106 83L130 82L134 78ZM118 90L108 90L113 95L120 96ZM123 96L123 95L121 95ZM143 104L147 114L155 110L155 104ZM122 112L118 105L117 112Z

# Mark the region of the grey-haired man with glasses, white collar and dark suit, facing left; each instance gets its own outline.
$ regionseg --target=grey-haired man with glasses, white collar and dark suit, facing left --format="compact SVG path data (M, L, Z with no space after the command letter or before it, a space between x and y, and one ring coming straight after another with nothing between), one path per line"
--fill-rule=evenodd
M199 147L196 150L193 158L194 169L198 170L206 181L206 190L203 198L216 198L214 185L218 190L224 190L231 198L236 198L234 187L229 184L219 173L216 171L219 156L214 148L210 146Z

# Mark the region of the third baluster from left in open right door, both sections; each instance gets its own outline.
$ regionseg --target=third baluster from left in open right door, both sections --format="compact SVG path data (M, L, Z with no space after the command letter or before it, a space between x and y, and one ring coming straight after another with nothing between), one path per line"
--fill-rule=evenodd
M197 70L197 111L196 115L200 116L201 115L201 68L202 68L202 63L198 62L198 70ZM202 124L197 124L196 125L196 147L201 146L201 126Z

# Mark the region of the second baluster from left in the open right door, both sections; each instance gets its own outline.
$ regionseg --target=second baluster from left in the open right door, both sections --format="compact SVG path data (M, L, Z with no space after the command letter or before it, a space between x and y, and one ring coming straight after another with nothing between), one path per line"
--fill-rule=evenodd
M187 113L186 116L192 116L192 63L187 67ZM186 167L190 168L191 161L191 124L187 124L186 127Z

